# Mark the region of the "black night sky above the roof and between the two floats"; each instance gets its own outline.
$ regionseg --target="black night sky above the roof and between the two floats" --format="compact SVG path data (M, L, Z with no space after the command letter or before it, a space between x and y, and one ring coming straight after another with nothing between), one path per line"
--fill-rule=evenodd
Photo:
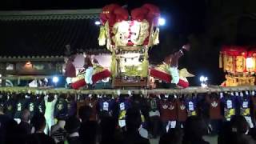
M106 4L128 9L153 3L160 7L166 26L161 27L160 45L150 50L150 59L161 62L166 54L190 42L191 50L180 62L197 77L204 74L211 84L220 84L218 52L223 45L256 46L255 0L1 0L0 10L59 10L102 8Z

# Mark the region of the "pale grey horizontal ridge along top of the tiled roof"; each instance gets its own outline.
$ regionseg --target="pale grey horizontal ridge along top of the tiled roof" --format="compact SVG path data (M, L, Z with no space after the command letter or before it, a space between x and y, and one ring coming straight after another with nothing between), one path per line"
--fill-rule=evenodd
M0 11L0 20L97 19L101 9Z

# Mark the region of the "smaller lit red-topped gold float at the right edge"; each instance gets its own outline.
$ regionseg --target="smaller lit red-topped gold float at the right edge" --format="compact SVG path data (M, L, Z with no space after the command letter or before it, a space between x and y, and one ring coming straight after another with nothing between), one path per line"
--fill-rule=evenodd
M226 72L226 81L222 86L254 86L254 56L246 46L223 46L219 67Z

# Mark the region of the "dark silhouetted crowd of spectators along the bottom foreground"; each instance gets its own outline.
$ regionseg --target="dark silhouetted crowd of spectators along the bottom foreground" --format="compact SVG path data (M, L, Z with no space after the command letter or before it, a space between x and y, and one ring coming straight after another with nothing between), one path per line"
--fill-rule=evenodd
M120 128L118 119L108 114L102 115L99 121L91 119L93 110L90 106L81 106L78 116L58 118L51 127L50 133L45 134L46 118L44 114L35 114L30 119L30 111L23 110L19 124L13 118L4 114L0 106L0 143L64 143L64 144L149 144L147 130L142 128L142 116L137 107L130 106L126 110L126 126ZM149 130L150 131L150 130ZM160 134L159 144L204 144L209 143L203 135L209 134L207 122L201 116L186 118L183 126L170 128ZM256 130L250 129L246 118L234 115L230 121L222 123L218 132L220 144L254 144Z

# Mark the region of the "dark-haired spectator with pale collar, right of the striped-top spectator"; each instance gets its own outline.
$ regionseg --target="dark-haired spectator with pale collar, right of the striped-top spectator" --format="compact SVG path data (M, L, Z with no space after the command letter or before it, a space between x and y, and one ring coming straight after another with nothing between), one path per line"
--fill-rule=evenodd
M65 130L67 132L66 141L69 144L81 144L79 139L78 130L80 128L80 121L76 117L66 119Z

